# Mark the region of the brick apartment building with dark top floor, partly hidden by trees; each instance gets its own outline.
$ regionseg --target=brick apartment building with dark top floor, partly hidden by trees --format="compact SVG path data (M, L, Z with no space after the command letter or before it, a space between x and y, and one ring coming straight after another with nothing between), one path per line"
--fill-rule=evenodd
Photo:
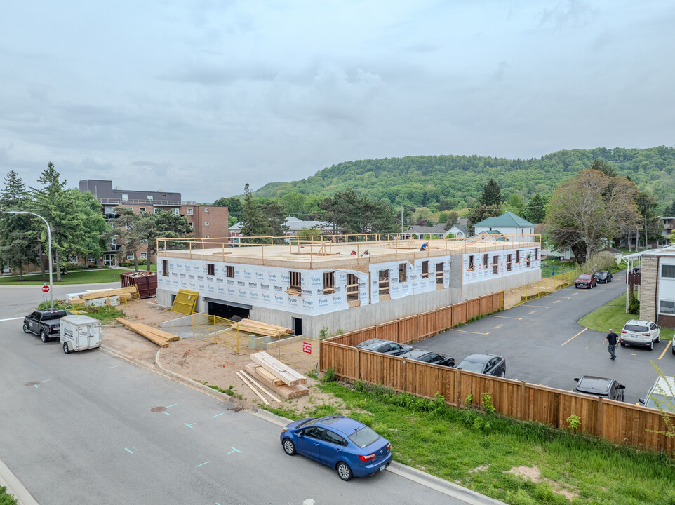
M180 193L163 191L138 191L135 189L121 189L112 187L112 181L86 179L80 181L79 189L82 193L89 191L101 204L102 212L106 220L112 220L116 216L116 207L126 207L134 213L160 213L170 212L175 215L185 216L190 227L194 229L195 238L222 238L229 235L228 213L226 206L201 205L196 202L184 202ZM113 240L107 245L103 253L102 264L114 266L117 264L119 246ZM145 258L147 251L140 250L139 257ZM127 258L127 260L131 260ZM93 256L87 258L87 263L93 264L96 259Z

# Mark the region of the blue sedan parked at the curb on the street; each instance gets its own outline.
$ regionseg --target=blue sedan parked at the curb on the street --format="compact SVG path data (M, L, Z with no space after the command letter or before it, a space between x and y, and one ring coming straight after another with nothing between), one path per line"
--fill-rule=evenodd
M342 415L307 417L281 432L289 456L302 454L338 471L342 480L380 472L392 462L392 445L355 419Z

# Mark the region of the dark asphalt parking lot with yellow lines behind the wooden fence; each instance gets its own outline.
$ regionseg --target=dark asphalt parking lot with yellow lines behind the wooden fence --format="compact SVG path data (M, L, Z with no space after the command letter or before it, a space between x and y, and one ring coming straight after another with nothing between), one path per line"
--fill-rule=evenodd
M612 361L607 346L601 346L606 332L586 330L577 323L625 290L622 282L587 290L571 286L434 335L415 347L450 354L457 363L473 353L498 354L506 358L508 379L559 389L574 389L574 378L582 375L611 377L626 386L625 401L636 403L657 377L650 361L666 375L675 375L670 342L662 340L653 351L617 346L617 359Z

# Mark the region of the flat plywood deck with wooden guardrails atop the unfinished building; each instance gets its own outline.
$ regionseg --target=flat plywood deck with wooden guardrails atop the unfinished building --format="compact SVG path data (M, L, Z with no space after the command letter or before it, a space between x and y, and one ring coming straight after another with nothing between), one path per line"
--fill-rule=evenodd
M535 236L514 236L519 241L494 241L476 236L468 240L436 239L429 242L429 250L420 250L424 240L389 240L363 242L315 242L298 243L294 241L283 245L236 245L194 241L189 248L171 250L170 240L159 241L158 255L206 262L225 262L230 264L260 264L270 267L288 267L302 269L345 268L361 270L370 263L389 261L413 261L417 258L434 258L446 255L471 253L489 253L490 251L532 248L540 245ZM524 240L523 240L524 238ZM528 241L528 238L532 240ZM202 248L203 246L203 248ZM356 254L352 254L354 251Z

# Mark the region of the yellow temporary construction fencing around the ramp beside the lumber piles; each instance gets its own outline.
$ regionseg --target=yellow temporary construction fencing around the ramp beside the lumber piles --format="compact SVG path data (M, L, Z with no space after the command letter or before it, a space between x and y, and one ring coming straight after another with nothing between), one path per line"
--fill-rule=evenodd
M192 337L225 346L237 354L266 351L293 368L318 370L321 340L282 332L276 335L254 335L232 328L235 323L210 314L192 314Z

